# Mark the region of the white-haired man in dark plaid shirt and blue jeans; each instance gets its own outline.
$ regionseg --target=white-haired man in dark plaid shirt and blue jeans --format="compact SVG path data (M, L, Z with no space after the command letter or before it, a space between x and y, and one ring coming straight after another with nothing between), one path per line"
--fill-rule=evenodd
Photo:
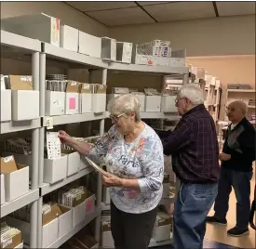
M218 192L219 146L215 124L204 106L199 86L183 85L176 107L182 116L179 124L172 132L157 132L181 181L174 208L174 248L199 249L203 246L206 217Z

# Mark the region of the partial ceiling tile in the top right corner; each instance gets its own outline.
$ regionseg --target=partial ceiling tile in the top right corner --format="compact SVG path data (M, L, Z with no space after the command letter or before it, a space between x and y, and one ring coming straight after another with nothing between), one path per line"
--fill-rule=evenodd
M220 16L255 14L255 2L216 2Z

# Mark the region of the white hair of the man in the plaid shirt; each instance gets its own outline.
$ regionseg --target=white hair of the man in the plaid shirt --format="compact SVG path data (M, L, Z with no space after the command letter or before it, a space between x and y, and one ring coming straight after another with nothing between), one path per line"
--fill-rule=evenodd
M195 84L182 85L177 98L188 98L194 106L204 104L205 101L203 90Z

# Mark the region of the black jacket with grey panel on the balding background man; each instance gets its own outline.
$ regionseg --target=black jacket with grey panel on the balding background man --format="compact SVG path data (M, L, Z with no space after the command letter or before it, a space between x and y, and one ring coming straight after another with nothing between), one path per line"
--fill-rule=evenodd
M255 128L246 118L236 124L233 130L231 124L228 126L222 152L231 155L230 160L222 162L222 167L234 171L252 171L252 162L255 160Z

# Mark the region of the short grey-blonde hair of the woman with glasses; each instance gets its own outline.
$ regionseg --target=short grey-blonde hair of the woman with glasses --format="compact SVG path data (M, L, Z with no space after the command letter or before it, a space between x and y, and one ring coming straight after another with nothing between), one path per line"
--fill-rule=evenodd
M124 94L112 98L108 103L107 110L114 115L120 115L122 113L129 115L132 111L134 111L135 122L141 121L141 103L133 94Z

